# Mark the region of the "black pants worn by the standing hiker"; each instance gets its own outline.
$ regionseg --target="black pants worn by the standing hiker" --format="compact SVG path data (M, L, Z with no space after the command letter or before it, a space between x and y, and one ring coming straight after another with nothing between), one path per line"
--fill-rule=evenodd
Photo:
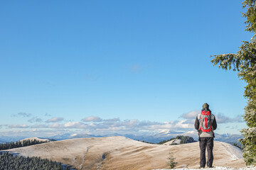
M213 165L213 137L199 137L200 146L200 166L206 166L206 147L208 152L207 166Z

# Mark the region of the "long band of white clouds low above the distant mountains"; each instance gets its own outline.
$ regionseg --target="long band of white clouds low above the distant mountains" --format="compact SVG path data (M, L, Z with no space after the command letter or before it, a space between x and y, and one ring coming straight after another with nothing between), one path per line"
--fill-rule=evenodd
M90 116L83 118L81 121L69 121L68 123L60 123L64 118L50 118L46 124L37 125L4 125L6 128L33 128L36 130L65 131L74 132L83 131L93 135L107 135L107 134L134 134L148 133L153 134L157 132L188 132L194 130L194 123L196 115L200 111L191 111L181 115L180 119L170 122L156 122L148 120L120 120L119 118L102 119L97 116ZM241 116L229 118L226 115L216 115L217 123L240 123ZM41 122L37 117L29 120L31 123ZM48 124L49 123L49 124ZM51 124L53 123L53 124Z

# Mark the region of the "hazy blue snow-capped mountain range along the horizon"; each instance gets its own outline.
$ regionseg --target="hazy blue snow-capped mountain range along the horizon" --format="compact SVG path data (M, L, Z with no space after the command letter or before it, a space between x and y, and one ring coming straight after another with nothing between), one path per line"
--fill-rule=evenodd
M145 142L152 142L152 143L159 143L163 140L169 140L172 137L176 137L178 135L183 136L189 136L193 137L194 140L198 140L198 133L196 131L189 131L189 132L174 132L174 131L165 131L165 132L159 132L155 135L132 135L132 134L110 134L110 135L88 135L88 134L71 134L71 133L64 133L61 135L54 135L47 137L48 139L54 139L54 140L68 140L68 139L74 139L74 138L84 138L84 137L111 137L111 136L124 136L128 137L132 140L139 140L139 141L145 141ZM22 140L26 137L6 137L6 136L0 136L0 143L4 142L16 142L18 140ZM242 138L242 135L236 135L236 134L218 134L215 133L215 140L220 142L227 142L230 144L237 143L238 140Z

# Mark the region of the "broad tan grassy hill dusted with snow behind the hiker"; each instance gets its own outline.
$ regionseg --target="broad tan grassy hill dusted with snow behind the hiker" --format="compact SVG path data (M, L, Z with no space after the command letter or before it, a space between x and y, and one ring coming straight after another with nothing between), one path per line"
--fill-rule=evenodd
M127 137L91 137L48 142L9 149L26 157L41 157L76 169L164 169L169 152L176 157L177 168L198 168L198 142L184 145L154 145ZM213 166L245 167L242 152L225 142L214 143Z

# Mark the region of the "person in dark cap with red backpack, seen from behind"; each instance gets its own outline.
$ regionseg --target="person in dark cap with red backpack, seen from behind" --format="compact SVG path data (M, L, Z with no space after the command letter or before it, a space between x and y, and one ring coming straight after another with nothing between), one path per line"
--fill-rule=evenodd
M200 168L206 166L206 147L208 152L207 166L213 167L213 138L217 128L215 116L211 113L208 103L203 104L203 110L196 116L195 128L198 130L200 146Z

